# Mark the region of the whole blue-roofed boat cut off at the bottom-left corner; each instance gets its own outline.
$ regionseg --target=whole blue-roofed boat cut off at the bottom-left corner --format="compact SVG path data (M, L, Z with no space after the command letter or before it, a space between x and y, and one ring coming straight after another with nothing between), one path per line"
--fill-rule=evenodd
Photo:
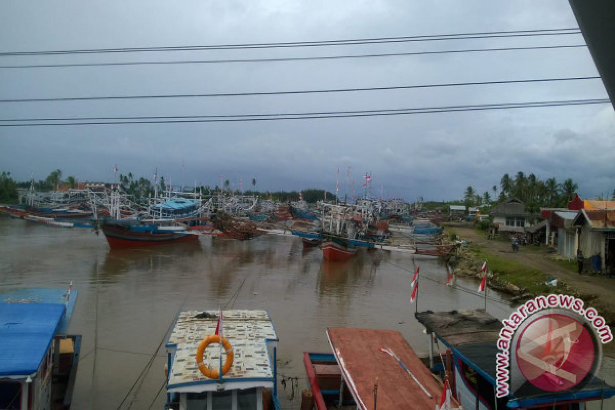
M0 408L69 409L81 336L66 334L76 291L0 294Z

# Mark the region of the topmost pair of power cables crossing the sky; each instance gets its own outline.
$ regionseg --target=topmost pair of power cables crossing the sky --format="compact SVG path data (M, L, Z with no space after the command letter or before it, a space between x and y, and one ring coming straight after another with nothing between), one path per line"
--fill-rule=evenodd
M248 44L215 44L215 45L177 45L169 47L121 47L116 49L81 49L81 50L45 50L23 52L0 52L0 57L23 57L38 55L71 55L100 53L136 53L136 52L167 52L167 51L208 51L208 50L245 50L245 49L275 49L288 47L323 47L335 45L386 44L395 42L416 41L447 41L466 39L485 39L501 37L531 37L531 36L562 36L581 34L579 28L561 28L545 30L512 30L487 31L483 33L428 34L422 36L376 37L363 39L325 40L325 41L295 41L269 42Z

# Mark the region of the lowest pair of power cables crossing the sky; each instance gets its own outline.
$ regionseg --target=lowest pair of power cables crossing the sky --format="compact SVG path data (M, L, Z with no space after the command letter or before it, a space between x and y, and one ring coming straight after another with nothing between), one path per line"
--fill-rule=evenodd
M402 114L426 114L434 112L481 111L485 109L511 109L511 108L538 108L583 104L609 103L606 98L594 100L568 100L568 101L539 101L533 103L500 103L465 106L442 106L426 108L402 109L373 109L359 111L320 111L295 112L273 114L230 114L220 116L149 116L149 117L74 117L74 118L48 118L48 119L4 119L3 122L12 121L79 121L79 120L105 120L104 122L46 122L31 124L0 124L0 127L37 127L46 125L118 125L118 124L178 124L192 122L245 122L260 120L290 120L290 119L322 119L343 117L369 117L391 116ZM141 120L143 119L143 120Z

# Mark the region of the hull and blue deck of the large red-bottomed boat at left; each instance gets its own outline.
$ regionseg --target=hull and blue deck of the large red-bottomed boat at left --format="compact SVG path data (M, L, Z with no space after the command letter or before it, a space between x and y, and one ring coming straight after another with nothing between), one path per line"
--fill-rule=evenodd
M110 248L134 248L198 240L197 232L185 226L166 226L167 221L128 222L102 221L100 229Z

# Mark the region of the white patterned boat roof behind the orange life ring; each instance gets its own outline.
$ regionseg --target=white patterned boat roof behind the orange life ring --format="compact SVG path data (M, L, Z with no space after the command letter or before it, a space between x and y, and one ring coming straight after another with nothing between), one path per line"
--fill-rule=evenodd
M179 313L167 341L167 352L172 353L167 392L196 393L273 386L268 346L276 346L278 339L266 310L224 310L223 336L234 352L232 367L224 375L223 382L200 373L196 365L196 350L205 337L215 334L219 313L218 310ZM219 368L220 345L213 344L205 349L203 362L212 369Z

